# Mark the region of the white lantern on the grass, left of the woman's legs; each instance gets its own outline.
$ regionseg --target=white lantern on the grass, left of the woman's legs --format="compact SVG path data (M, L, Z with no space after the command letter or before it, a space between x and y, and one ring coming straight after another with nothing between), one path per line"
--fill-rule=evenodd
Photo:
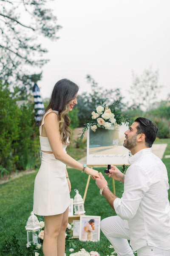
M27 231L27 247L33 244L38 244L38 236L34 233L36 231L40 232L40 222L37 217L31 212L31 215L28 218L26 223L26 231Z

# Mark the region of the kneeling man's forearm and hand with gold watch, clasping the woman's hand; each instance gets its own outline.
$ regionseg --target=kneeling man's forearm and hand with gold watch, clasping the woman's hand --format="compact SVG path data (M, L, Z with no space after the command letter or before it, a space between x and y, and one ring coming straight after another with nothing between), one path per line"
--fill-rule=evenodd
M101 172L99 172L100 178L96 177L96 185L99 187L99 189L102 189L104 186L108 186L108 182L105 180L104 176ZM113 202L117 198L116 195L114 195L108 188L105 188L103 190L103 195L110 204L110 206L114 209Z

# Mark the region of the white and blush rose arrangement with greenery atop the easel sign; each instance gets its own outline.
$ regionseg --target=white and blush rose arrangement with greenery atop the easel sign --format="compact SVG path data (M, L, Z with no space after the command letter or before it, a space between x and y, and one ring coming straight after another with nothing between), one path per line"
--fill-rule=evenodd
M82 129L80 140L82 140L85 131L90 127L92 131L96 131L98 128L104 129L118 129L122 122L132 123L127 115L122 115L116 105L119 101L114 102L110 106L99 105L95 108L95 111L91 113L91 119L85 123L85 127Z

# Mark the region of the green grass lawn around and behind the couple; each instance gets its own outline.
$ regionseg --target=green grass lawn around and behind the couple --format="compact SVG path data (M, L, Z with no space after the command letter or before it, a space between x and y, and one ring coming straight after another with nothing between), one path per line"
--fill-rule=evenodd
M167 143L167 148L165 155L170 155L170 139L156 140L156 143ZM75 150L76 151L76 150ZM74 151L74 154L76 154ZM86 151L83 153L85 154ZM71 151L69 152L71 154ZM79 149L77 149L77 155L79 155ZM84 155L83 155L84 156ZM82 155L81 155L82 157ZM163 157L163 162L167 166L168 176L170 180L170 158ZM104 168L96 168L99 171L103 172ZM27 253L26 248L26 221L30 216L30 212L33 207L33 192L34 192L34 179L37 174L37 171L28 175L23 175L22 177L11 180L7 183L0 185L0 256L11 256L17 255L13 252L4 254L2 252L2 246L6 239L10 239L12 234L16 234L18 243L20 247ZM79 190L79 194L84 195L86 182L88 180L88 175L81 173L74 169L68 169L68 175L71 180L71 198L74 198L76 193L74 189ZM112 179L108 178L108 186L110 189L113 188ZM123 192L123 184L115 181L116 195L121 197ZM169 191L170 198L170 191ZM99 189L95 184L95 181L90 179L88 186L88 192L85 198L85 214L86 215L97 215L101 216L101 220L108 216L115 215L115 212L111 209L104 197L99 195ZM105 238L105 236L100 233L99 242L82 242L79 239L74 239L75 250L74 252L79 251L81 248L85 248L86 251L90 252L91 250L96 250L100 256L111 255L113 249L108 248L110 242ZM66 247L67 256L70 254L69 248ZM25 254L26 255L26 254ZM31 255L31 254L30 254ZM18 255L19 256L19 255ZM42 256L42 254L40 254Z

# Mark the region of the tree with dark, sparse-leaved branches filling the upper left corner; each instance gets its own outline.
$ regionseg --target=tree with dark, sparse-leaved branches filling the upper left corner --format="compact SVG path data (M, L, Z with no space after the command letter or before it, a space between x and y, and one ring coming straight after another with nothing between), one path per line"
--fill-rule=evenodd
M61 26L45 7L46 2L0 0L0 79L4 84L17 85L21 92L29 90L27 80L31 80L25 76L28 67L40 68L48 61L43 57L47 49L40 43L42 36L58 39Z

